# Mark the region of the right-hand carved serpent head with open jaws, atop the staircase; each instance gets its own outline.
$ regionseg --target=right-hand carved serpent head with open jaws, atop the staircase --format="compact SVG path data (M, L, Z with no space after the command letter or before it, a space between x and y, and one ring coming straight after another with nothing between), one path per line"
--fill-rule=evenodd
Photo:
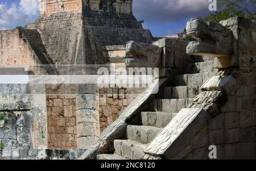
M187 47L188 54L217 57L232 55L232 31L220 23L212 21L206 23L203 19L193 18L188 20L187 34L199 38L197 41L189 43ZM207 41L203 37L206 37Z

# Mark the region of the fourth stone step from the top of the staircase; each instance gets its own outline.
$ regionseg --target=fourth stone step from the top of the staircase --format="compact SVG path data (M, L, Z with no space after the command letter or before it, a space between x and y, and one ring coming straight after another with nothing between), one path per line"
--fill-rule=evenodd
M192 102L193 98L154 99L152 106L154 111L178 113L181 109L187 108Z

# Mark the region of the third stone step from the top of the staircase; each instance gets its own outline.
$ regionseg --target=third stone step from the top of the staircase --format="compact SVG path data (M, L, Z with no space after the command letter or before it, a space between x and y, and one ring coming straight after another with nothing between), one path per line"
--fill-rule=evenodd
M200 92L201 86L175 86L163 88L163 96L166 99L195 98Z

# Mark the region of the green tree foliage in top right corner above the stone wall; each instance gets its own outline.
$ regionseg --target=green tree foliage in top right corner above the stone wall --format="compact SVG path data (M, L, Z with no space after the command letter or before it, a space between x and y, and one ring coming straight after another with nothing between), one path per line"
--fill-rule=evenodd
M217 9L218 11L204 19L215 22L220 22L233 16L256 19L256 0L217 0Z

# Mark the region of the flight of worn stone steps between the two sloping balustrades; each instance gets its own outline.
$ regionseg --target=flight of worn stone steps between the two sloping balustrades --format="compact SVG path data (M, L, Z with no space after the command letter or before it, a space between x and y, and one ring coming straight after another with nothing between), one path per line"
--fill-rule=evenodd
M205 58L188 64L185 73L175 76L170 85L155 95L151 111L141 112L141 125L127 126L126 140L114 140L114 154L98 155L98 160L139 160L144 149L200 92L200 87L217 74L213 61Z

